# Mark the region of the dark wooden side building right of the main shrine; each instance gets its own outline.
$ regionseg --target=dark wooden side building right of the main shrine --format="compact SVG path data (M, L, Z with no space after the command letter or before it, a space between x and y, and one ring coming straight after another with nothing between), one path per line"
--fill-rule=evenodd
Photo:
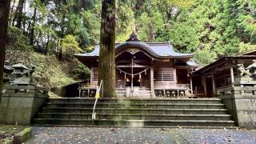
M193 90L196 97L217 97L219 91L233 87L235 79L240 77L238 64L245 68L256 59L256 50L230 57L219 58L210 65L194 71Z

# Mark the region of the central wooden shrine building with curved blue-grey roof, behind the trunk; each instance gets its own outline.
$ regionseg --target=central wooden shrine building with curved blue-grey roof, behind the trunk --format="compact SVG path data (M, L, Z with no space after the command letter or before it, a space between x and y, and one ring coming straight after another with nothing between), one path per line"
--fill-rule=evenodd
M75 54L90 68L90 82L79 88L93 95L98 84L99 46L87 54ZM119 97L190 97L193 54L175 52L169 42L139 42L135 34L116 43L116 94Z

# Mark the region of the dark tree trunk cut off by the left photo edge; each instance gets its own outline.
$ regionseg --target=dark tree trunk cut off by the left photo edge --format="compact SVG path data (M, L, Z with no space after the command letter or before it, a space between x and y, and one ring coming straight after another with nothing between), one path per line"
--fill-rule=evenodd
M6 37L8 17L10 12L10 0L0 0L0 102L2 97L2 79L6 52Z

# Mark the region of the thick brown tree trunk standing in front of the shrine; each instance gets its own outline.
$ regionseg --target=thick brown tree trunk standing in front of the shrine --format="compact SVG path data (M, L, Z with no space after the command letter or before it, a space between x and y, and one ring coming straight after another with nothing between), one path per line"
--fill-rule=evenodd
M115 0L102 0L98 83L106 98L115 97L115 11Z

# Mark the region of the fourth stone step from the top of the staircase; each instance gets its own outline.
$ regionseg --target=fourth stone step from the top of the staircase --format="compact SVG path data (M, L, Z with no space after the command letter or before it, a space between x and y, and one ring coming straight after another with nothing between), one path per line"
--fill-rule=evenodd
M91 119L91 113L39 113L38 118ZM96 114L97 119L231 120L230 114Z

